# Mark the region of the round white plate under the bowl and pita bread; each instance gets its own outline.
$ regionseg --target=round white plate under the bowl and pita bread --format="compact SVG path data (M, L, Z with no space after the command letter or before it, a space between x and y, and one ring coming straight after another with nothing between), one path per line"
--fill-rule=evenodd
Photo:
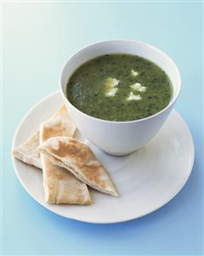
M20 122L13 148L52 116L61 102L60 92L55 92L36 104ZM85 140L81 134L77 137ZM44 203L40 170L13 159L15 173L27 193L56 214L87 223L119 223L142 217L165 205L184 187L194 163L189 128L176 110L154 140L129 156L112 157L90 143L89 146L107 168L119 198L91 190L92 205L48 205Z

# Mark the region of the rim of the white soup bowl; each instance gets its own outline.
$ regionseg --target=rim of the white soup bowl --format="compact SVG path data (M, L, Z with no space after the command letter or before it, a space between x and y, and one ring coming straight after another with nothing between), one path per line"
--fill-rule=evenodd
M61 82L61 78L62 78L62 75L64 74L65 72L65 68L67 66L67 63L73 59L73 57L75 57L75 55L79 54L81 51L85 51L86 48L90 48L94 45L101 45L101 44L104 44L104 43L109 43L109 42L125 42L125 43L137 43L137 44L140 44L140 45L144 45L145 47L148 47L150 48L151 50L153 51L157 51L159 52L161 55L163 55L166 59L168 59L168 61L170 63L172 63L172 66L174 66L174 68L176 69L177 73L178 73L178 92L176 93L175 96L173 96L172 100L169 102L169 104L166 105L166 107L163 109L163 110L160 110L159 112L155 113L154 115L152 116L147 116L147 117L144 117L144 118L141 118L141 119L137 119L137 120L131 120L131 121L111 121L111 120L105 120L105 119L101 119L101 118L98 118L98 117L95 117L95 116L90 116L88 114L86 114L85 112L77 109L68 99L67 99L67 96L65 95L64 93L64 90L63 90L63 86L62 86L62 82ZM81 63L83 64L83 63ZM135 123L135 122L144 122L144 121L148 121L149 119L152 119L154 118L155 116L159 116L161 113L165 112L167 109L171 108L171 106L173 104L175 104L175 102L177 101L178 99L178 95L180 94L180 91L181 91L181 74L180 74L180 71L178 69L178 66L176 65L176 63L173 62L172 58L169 57L165 52L161 51L160 49L158 49L157 47L155 47L154 45L150 45L149 43L145 43L143 41L137 41L137 40L131 40L131 39L110 39L110 40L102 40L102 41L96 41L94 43L91 43L89 45L85 45L84 47L80 48L78 51L75 51L73 53L73 55L71 55L71 57L68 57L67 61L64 63L64 65L62 66L61 68L61 72L60 72L60 91L61 91L61 95L62 95L62 98L64 98L68 104L70 104L74 110L76 110L77 112L80 113L80 115L83 115L83 116L86 116L86 117L89 117L90 119L96 121L96 122L108 122L108 123Z

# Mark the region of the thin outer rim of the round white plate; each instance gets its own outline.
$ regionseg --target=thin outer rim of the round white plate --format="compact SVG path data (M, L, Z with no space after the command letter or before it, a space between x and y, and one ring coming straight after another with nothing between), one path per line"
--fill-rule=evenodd
M24 182L21 180L20 178L20 175L17 171L17 167L16 167L16 164L15 164L15 158L12 154L14 148L15 148L15 140L16 138L18 137L18 134L19 134L19 130L20 130L20 127L21 125L23 124L23 122L25 122L27 116L29 116L32 111L39 105L39 104L42 104L45 100L51 98L51 97L54 97L55 95L59 95L61 92L58 90L58 91L55 91L55 92L51 92L49 95L45 96L44 98L41 98L40 100L38 100L38 102L36 104L33 104L32 107L26 111L26 114L20 119L20 122L17 126L17 128L15 128L15 134L14 134L14 137L13 137L13 140L12 140L12 144L11 144L11 158L12 158L12 164L13 164L13 167L14 167L14 170L15 170L15 175L17 176L21 186L26 190L26 192L32 197L32 199L34 199L35 201L38 202L38 204L44 206L44 208L46 208L47 210L55 213L56 215L59 215L61 217L65 217L65 218L68 218L68 219L73 219L73 220L76 220L76 221L79 221L79 222L83 222L83 223L96 223L96 224L110 224L110 223L124 223L124 222L128 222L128 221L131 221L131 220L135 220L137 218L140 218L140 217L144 217L144 216L147 216L151 213L153 213L154 211L158 211L160 210L161 207L163 207L164 205L167 205L172 199L174 199L178 193L181 192L181 190L184 188L186 182L188 182L189 180L189 176L193 170L193 166L194 166L194 163L195 163L195 144L194 144L194 140L193 140L193 137L192 137L192 134L189 130L189 127L187 125L187 123L184 121L184 118L178 113L177 110L173 109L172 112L174 111L178 117L181 119L181 121L183 122L183 125L184 125L184 128L186 130L186 132L188 133L188 137L189 137L189 140L190 140L190 150L191 150L191 162L189 164L189 174L188 176L186 177L186 180L184 181L184 183L182 184L181 188L178 189L177 192L175 193L172 193L172 196L166 200L166 202L162 205L160 205L159 207L155 207L152 211L149 211L148 213L143 213L137 217L120 217L119 220L115 220L115 221L90 221L90 220L82 220L82 219L79 219L79 218L74 218L74 217L67 217L65 214L63 213L59 213L58 211L55 211L55 209L50 209L49 208L49 205L47 205L45 202L41 202L40 200L38 200L37 198L35 198L32 193L30 193L29 189L26 188L26 185L24 184ZM63 99L61 100L63 102Z

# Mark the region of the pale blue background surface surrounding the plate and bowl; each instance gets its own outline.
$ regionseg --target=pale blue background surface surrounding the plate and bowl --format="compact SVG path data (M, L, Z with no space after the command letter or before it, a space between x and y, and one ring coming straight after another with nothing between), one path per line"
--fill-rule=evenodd
M203 87L201 3L3 3L3 254L201 255L203 253ZM106 39L137 39L178 64L176 109L195 140L184 189L159 211L119 224L80 223L38 205L10 158L15 128L58 88L74 51ZM175 159L176 161L176 159Z

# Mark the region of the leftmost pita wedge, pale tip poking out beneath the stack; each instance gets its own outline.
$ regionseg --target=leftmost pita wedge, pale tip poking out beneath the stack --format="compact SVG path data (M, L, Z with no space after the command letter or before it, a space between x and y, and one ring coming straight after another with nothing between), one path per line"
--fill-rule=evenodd
M13 155L20 161L34 165L42 169L40 154L37 150L39 146L39 131L33 134L26 142L15 148Z

